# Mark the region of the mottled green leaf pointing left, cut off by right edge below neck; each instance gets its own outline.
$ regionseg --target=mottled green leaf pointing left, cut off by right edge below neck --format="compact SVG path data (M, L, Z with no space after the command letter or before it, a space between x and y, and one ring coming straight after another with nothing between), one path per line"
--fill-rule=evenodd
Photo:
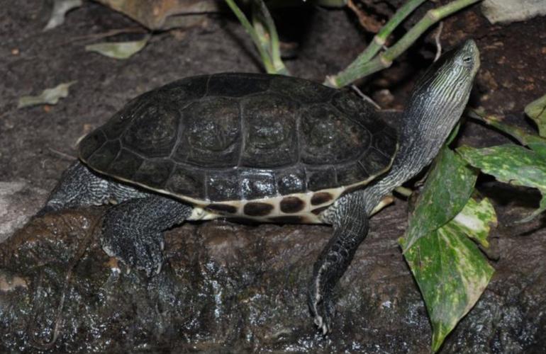
M538 152L514 144L474 149L459 147L457 152L472 166L512 185L537 188L542 200L535 212L521 222L528 222L546 210L546 159Z

